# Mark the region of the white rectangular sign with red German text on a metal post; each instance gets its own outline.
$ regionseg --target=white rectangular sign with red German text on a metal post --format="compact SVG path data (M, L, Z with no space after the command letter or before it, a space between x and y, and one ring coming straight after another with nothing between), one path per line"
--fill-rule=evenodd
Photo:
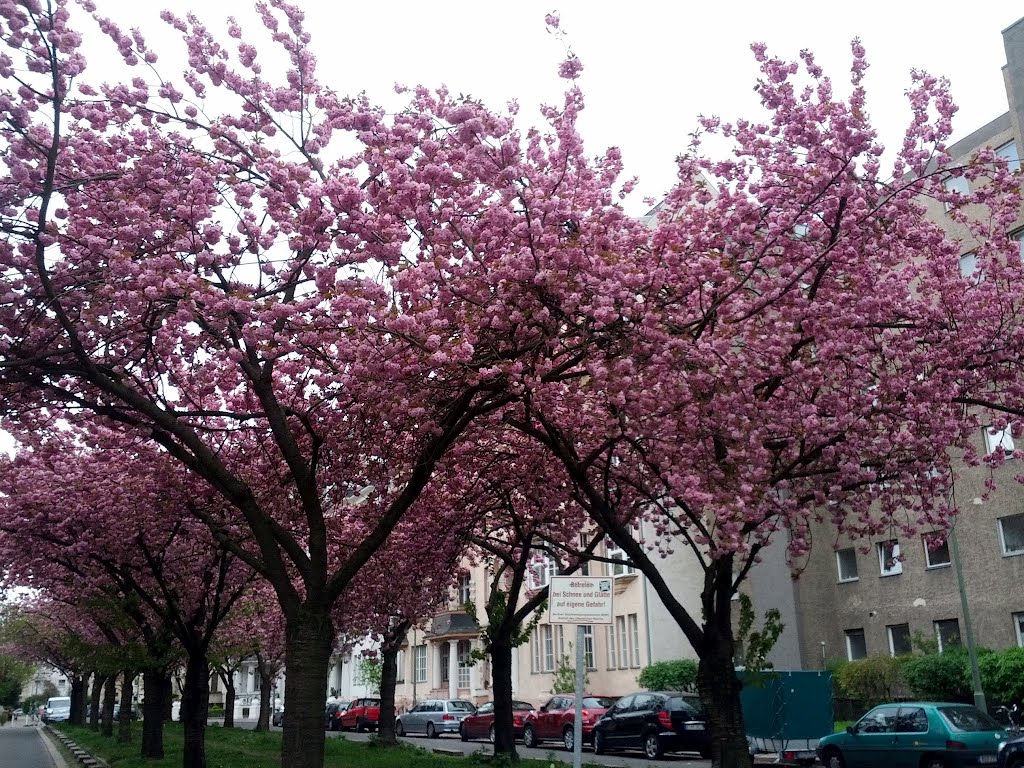
M612 618L611 577L552 577L548 591L548 621L577 626L575 717L572 725L572 768L583 766L583 694L586 658L583 628L610 625Z

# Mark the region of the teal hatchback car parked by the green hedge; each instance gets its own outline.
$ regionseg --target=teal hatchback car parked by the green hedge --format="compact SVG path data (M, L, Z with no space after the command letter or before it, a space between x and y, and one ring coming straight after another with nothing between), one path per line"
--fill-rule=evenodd
M966 768L995 765L1007 732L976 707L903 701L876 707L818 741L827 768Z

